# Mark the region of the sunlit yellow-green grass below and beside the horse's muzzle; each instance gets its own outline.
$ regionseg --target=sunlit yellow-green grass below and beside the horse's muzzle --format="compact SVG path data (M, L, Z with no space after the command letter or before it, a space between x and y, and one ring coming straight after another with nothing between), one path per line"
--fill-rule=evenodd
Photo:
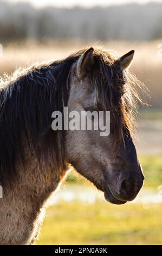
M162 156L140 157L146 182L157 191L162 185ZM68 182L85 179L72 173ZM50 206L38 245L159 245L162 244L162 205L112 205L66 202Z

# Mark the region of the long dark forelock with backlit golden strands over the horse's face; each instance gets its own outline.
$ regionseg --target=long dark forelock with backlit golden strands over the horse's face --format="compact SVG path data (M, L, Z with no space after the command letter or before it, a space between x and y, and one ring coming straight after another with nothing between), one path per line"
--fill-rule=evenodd
M139 93L141 90L146 93L147 88L131 71L121 69L114 52L95 49L94 56L95 64L89 70L89 81L95 89L97 107L110 111L115 155L121 143L125 143L124 138L135 131L138 103L146 104Z

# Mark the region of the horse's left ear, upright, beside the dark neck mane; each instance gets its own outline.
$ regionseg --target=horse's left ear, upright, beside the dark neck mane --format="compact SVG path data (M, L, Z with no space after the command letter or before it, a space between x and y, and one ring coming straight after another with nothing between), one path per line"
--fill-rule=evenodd
M90 69L94 64L94 48L90 47L85 53L81 55L79 60L77 61L77 76L79 79L82 79L86 76L88 69Z

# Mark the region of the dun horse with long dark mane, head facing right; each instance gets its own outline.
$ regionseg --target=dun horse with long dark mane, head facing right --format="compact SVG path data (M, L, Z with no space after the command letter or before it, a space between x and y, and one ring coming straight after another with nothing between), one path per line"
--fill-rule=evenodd
M36 63L1 78L1 245L31 245L46 202L69 166L113 204L140 191L144 175L133 143L141 82L129 70L134 51L86 48L63 60ZM109 136L99 131L51 129L54 111L109 111Z

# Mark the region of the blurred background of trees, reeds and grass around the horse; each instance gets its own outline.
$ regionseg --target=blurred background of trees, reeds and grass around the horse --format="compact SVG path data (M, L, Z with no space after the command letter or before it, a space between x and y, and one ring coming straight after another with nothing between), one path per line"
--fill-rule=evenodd
M115 50L119 56L134 49L131 69L146 84L151 97L146 99L150 107L139 106L137 116L134 140L146 176L137 199L111 205L72 170L51 197L37 244L161 244L162 1L138 1L148 2L141 5L121 0L120 5L88 8L49 7L45 2L39 8L28 0L0 1L1 76L36 61L67 57L91 45Z

